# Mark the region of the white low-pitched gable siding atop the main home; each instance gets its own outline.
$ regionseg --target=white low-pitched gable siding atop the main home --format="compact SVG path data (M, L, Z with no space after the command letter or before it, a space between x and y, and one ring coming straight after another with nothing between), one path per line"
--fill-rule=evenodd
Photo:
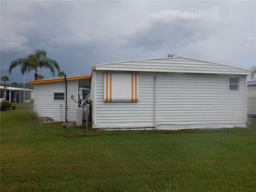
M154 71L175 73L203 73L203 74L249 74L250 72L236 67L219 63L199 61L187 58L162 58L133 60L125 62L96 65L97 70L129 70Z

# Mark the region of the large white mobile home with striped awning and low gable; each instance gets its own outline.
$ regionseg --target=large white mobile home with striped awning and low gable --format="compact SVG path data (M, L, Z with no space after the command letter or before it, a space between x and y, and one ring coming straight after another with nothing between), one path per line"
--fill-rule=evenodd
M95 65L94 129L245 127L249 70L187 58Z

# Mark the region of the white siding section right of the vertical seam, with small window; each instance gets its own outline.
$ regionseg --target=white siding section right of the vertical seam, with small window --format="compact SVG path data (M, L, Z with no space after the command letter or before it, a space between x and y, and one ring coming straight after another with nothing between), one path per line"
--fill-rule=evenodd
M169 74L157 77L157 124L245 123L245 77L228 91L227 75Z

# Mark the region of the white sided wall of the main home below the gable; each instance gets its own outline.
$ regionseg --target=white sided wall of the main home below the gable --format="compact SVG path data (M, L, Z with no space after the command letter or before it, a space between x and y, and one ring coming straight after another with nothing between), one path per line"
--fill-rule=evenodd
M103 73L93 76L95 129L154 127L155 120L158 129L245 126L247 121L245 75L141 72L138 103L105 103ZM239 91L228 90L232 76L240 78Z

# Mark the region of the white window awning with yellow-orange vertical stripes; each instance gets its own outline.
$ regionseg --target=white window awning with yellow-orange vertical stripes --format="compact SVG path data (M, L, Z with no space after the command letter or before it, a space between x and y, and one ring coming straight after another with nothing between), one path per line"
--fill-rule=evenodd
M138 102L138 74L104 74L104 102Z

